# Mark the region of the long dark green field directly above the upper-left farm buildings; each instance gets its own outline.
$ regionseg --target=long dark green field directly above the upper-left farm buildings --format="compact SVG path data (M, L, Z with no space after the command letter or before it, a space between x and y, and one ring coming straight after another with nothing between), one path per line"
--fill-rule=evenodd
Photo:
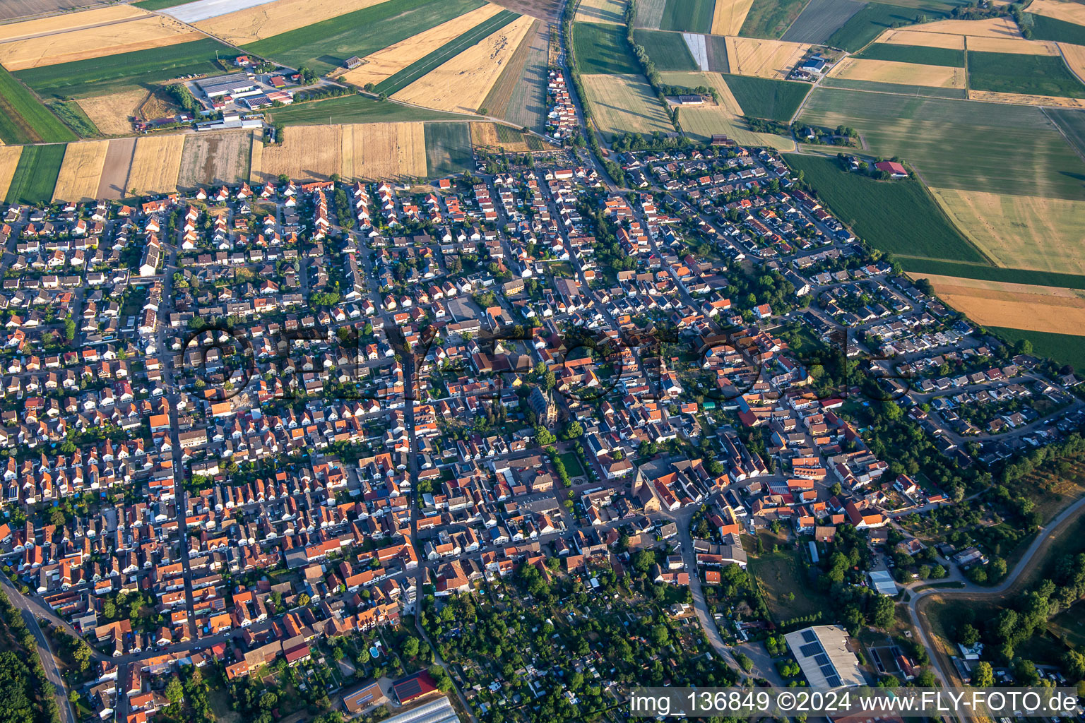
M27 68L15 76L41 95L61 100L86 98L146 87L183 75L222 73L226 66L216 63L216 52L224 60L238 55L233 48L204 38L166 48Z

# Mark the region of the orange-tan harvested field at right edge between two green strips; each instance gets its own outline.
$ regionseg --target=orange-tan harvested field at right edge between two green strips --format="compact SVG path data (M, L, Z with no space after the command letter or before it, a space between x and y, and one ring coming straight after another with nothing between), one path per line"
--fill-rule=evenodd
M922 274L939 297L985 326L1085 334L1085 292Z

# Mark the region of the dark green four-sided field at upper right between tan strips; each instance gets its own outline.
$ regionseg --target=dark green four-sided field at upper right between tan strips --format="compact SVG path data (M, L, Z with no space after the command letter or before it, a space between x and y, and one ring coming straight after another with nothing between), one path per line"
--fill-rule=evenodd
M1085 98L1085 86L1056 55L969 51L968 87L998 93Z

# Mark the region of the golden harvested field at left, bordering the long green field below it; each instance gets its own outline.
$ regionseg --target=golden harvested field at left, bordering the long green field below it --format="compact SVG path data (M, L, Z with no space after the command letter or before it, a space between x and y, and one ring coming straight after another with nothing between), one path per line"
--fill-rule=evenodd
M140 17L113 22L105 27L73 29L25 40L0 42L0 63L9 70L25 70L43 65L164 48L203 37L202 33L173 17L144 13Z

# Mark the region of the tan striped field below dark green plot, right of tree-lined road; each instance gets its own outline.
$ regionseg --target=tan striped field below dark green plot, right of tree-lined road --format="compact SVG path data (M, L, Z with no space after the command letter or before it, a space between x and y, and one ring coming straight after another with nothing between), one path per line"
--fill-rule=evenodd
M604 133L674 131L660 99L641 76L584 75L580 80L592 117Z

